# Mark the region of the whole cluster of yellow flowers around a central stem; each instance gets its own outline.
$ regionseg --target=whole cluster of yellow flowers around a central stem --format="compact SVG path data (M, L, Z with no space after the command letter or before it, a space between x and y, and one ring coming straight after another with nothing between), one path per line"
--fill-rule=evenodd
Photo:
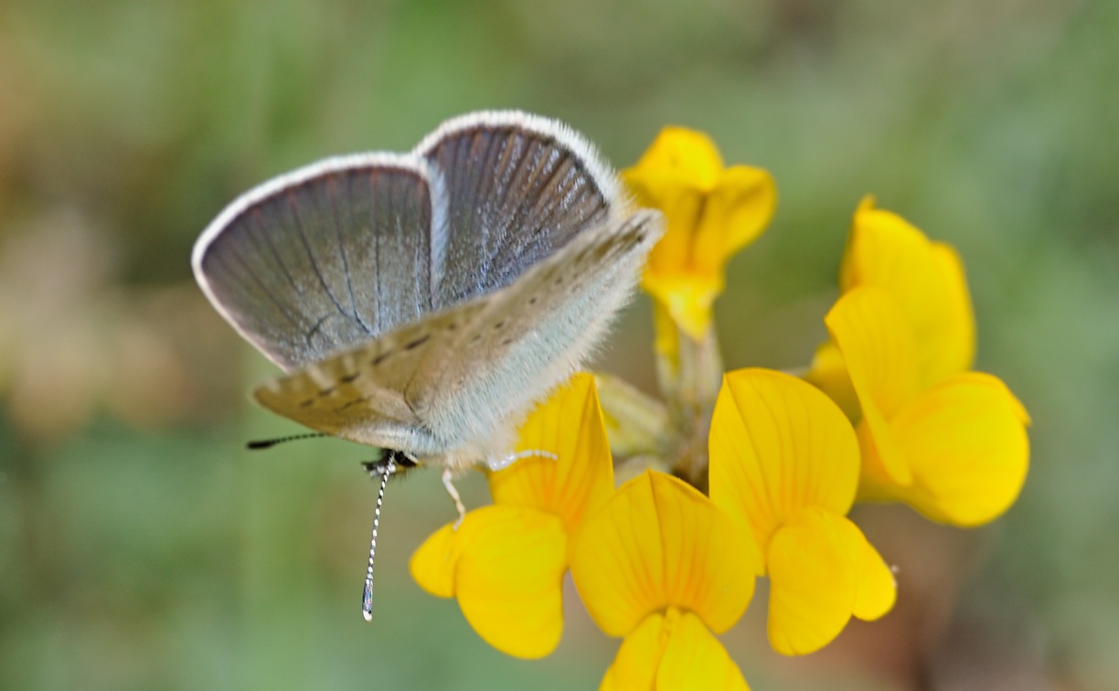
M871 199L807 373L724 373L712 305L730 256L773 214L772 179L724 169L711 140L678 127L624 179L668 223L642 282L665 399L574 377L523 426L528 457L489 472L493 504L431 536L411 569L519 657L557 645L570 570L591 617L622 638L602 689L746 689L716 635L758 577L769 578L770 643L787 655L827 645L853 616L884 616L894 575L852 505L989 522L1025 481L1029 418L999 379L970 369L959 256Z

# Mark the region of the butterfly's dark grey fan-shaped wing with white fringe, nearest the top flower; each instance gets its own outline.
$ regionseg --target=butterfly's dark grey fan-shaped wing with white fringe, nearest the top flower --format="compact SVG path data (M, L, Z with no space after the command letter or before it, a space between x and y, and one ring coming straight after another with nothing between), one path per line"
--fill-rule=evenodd
M444 123L415 153L446 190L436 306L505 287L620 210L617 180L582 136L523 113Z

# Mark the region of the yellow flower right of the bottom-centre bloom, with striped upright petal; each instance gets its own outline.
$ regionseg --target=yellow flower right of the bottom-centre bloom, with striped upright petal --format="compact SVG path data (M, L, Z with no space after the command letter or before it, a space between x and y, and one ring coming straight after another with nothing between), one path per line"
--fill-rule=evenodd
M858 484L858 442L826 395L789 375L728 372L711 425L711 499L750 528L770 577L769 638L810 653L850 619L876 619L893 576L846 517Z

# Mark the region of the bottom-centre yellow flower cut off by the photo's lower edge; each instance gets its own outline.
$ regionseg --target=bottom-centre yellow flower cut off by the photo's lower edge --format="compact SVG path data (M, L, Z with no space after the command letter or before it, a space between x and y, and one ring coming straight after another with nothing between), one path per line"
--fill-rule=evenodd
M624 636L600 689L747 689L712 632L745 612L758 561L749 532L684 482L646 471L622 485L572 547L587 612Z

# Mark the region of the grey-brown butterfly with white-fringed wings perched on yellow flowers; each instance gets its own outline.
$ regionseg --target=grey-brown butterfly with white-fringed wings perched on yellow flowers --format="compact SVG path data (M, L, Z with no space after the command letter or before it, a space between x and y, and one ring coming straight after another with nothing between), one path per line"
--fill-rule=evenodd
M481 112L411 153L327 159L250 190L201 234L192 265L286 372L254 391L261 404L393 449L389 463L450 472L509 457L661 233L580 134Z

